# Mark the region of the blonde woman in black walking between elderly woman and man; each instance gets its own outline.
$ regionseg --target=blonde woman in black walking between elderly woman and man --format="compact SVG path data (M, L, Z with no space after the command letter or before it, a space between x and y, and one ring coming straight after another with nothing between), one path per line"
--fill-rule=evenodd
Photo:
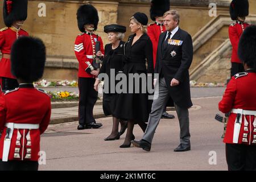
M129 74L137 73L140 76L147 76L148 73L153 73L153 56L152 56L152 42L147 30L147 15L144 13L135 13L130 19L131 32L133 35L129 36L128 42L125 44L125 56L123 56L123 73L127 77L127 93L123 92L117 95L113 115L117 118L126 119L128 121L127 133L125 142L120 146L121 148L130 147L131 140L135 137L133 135L134 124L138 123L142 130L146 130L146 123L150 107L148 107L148 93L142 92L143 88L147 88L145 81L139 80L139 92L136 93L135 86L138 85L136 79L133 79L133 85L128 83ZM146 68L147 60L147 68ZM138 81L138 80L137 80ZM130 92L129 87L133 86Z

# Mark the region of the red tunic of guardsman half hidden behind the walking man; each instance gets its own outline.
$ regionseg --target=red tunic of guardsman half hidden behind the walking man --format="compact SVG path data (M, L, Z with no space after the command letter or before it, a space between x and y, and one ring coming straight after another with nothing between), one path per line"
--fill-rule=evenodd
M154 68L155 68L155 61L156 61L156 52L158 51L159 36L164 31L166 31L166 27L164 27L163 24L156 23L156 22L148 24L147 35L150 37L150 40L153 45Z

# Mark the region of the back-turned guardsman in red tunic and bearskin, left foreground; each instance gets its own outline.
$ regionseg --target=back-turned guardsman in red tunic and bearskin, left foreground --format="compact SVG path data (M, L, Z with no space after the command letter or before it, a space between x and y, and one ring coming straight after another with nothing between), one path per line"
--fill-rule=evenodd
M40 135L51 117L51 97L34 88L43 76L46 47L24 36L11 49L11 72L19 87L0 96L0 170L37 170Z

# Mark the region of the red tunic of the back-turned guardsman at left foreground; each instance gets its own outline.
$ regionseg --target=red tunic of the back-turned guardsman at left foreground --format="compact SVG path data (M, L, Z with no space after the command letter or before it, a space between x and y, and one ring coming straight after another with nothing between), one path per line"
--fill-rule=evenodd
M40 134L47 129L51 117L51 98L47 93L30 85L1 94L0 96L0 159L3 159L3 143L6 123L39 124L39 129L14 129L8 160L38 161ZM22 155L23 154L23 155Z

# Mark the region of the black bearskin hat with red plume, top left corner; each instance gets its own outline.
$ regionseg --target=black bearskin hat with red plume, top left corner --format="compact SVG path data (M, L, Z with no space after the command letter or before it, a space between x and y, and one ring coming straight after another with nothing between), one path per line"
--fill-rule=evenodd
M28 0L4 0L3 1L3 20L7 27L17 20L27 19Z

